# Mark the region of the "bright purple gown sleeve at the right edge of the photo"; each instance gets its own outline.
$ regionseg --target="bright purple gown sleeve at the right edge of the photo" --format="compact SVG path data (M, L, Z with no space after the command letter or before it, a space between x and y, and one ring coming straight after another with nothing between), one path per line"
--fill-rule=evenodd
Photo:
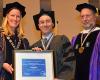
M89 80L100 80L100 32L97 36L90 61Z

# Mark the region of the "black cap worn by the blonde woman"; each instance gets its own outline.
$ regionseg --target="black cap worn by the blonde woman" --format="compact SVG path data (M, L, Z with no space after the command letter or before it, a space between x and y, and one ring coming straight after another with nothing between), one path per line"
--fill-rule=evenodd
M25 16L26 14L25 7L18 2L14 2L14 3L6 4L6 7L3 8L3 17L5 17L6 14L9 13L9 11L12 10L13 8L20 10L22 17Z

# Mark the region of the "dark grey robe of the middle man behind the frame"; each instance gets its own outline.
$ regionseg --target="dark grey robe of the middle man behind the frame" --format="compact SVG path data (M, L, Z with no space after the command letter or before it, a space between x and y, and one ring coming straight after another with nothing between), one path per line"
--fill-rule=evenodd
M31 48L43 49L41 39L34 43ZM74 75L73 50L68 38L64 35L54 36L48 49L54 51L54 74L55 77L71 80ZM69 58L70 57L70 58ZM65 73L65 74L64 74Z

